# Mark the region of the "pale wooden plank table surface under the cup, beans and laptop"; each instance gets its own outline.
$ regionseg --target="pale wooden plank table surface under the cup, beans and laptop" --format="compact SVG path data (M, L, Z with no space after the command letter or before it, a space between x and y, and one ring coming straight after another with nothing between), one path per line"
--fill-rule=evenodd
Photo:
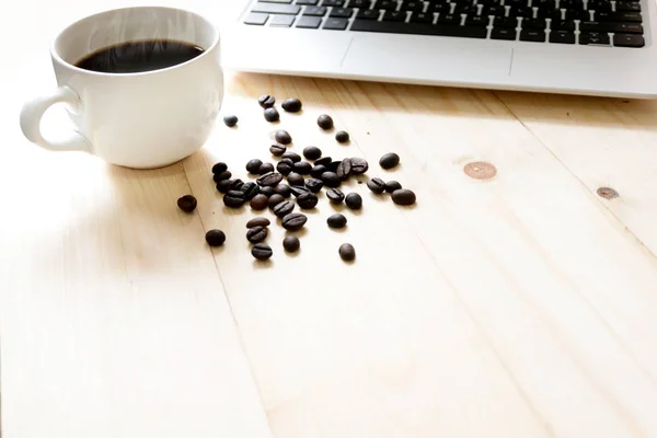
M0 8L3 437L657 437L656 102L229 72L239 127L132 171L43 151L18 124L54 85L54 35L129 2L14 3ZM262 93L303 112L269 125ZM254 262L256 214L226 209L209 170L244 177L277 128L293 150L366 158L417 205L354 181L346 230L322 198L298 255L273 226L272 262ZM389 151L402 164L387 172ZM480 160L493 180L465 175ZM175 205L188 193L191 216ZM205 244L211 228L223 247Z

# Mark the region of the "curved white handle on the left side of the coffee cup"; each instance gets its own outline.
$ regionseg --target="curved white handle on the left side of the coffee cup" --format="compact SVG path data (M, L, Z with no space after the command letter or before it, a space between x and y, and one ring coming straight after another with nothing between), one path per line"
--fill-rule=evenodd
M53 151L83 151L91 152L91 145L84 136L71 132L62 140L48 140L41 131L41 120L45 112L56 103L68 103L72 107L79 107L80 97L68 87L59 87L50 95L33 99L23 105L21 111L21 129L27 140L44 149Z

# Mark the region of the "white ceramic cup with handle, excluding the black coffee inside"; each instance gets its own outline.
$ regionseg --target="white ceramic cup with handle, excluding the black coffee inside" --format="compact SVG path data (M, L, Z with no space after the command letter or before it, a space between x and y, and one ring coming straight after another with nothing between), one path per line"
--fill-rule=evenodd
M108 46L148 39L186 42L204 49L192 60L138 73L104 73L74 65ZM126 8L71 24L53 44L57 77L51 94L23 106L21 128L44 149L85 151L110 163L148 169L176 162L207 140L223 99L219 33L206 19L172 8ZM48 107L68 104L76 130L47 139Z

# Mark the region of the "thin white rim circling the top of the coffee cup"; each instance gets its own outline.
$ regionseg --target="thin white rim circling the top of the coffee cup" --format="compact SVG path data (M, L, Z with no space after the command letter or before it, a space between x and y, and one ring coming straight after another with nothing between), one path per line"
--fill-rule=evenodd
M96 18L99 15L103 15L110 12L120 12L120 11L134 11L134 10L138 10L138 9L151 9L151 10L166 10L166 11L174 11L174 12L183 12L183 13L187 13L191 15L194 15L196 18L198 18L199 20L201 20L205 24L207 24L209 27L211 27L215 32L215 37L212 38L212 43L209 45L209 47L204 50L200 55L198 55L195 58L192 58L185 62L181 62L181 64L176 64L175 66L171 66L171 67L165 67L162 69L157 69L157 70L149 70L149 71L138 71L138 72L131 72L131 73L107 73L104 71L93 71L93 70L87 70L80 67L77 67L66 60L64 60L64 58L61 58L61 56L59 56L59 54L57 53L56 46L57 46L57 42L59 41L59 38L61 37L61 35L67 32L68 30L79 25L82 21L84 20L89 20L89 19L93 19ZM205 16L196 13L196 12L192 12L189 10L186 9L181 9L181 8L170 8L170 7L128 7L128 8L115 8L115 9L107 9L105 11L101 11L91 15L87 15L83 16L79 20L76 20L74 22L72 22L71 24L69 24L68 26L66 26L64 30L61 30L58 34L57 37L55 37L55 41L53 42L53 44L50 45L50 56L53 57L53 59L59 64L61 64L62 66L81 72L81 73L85 73L85 74L92 74L92 76L99 76L99 77L113 77L113 78L132 78L132 77L137 77L137 76L147 76L147 74L153 74L153 73L161 73L164 71L169 71L169 70L173 70L173 69L177 69L177 68L182 68L184 66L187 66L191 62L194 62L195 60L205 58L206 56L209 56L210 51L214 51L215 48L219 45L219 39L220 39L220 35L219 35L219 30L217 28L217 26L210 22L208 19L206 19Z

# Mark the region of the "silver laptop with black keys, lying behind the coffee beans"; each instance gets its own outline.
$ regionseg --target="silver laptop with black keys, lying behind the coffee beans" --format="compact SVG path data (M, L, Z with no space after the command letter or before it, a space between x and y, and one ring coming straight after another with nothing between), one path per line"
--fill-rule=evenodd
M650 0L253 0L228 68L322 78L657 97Z

